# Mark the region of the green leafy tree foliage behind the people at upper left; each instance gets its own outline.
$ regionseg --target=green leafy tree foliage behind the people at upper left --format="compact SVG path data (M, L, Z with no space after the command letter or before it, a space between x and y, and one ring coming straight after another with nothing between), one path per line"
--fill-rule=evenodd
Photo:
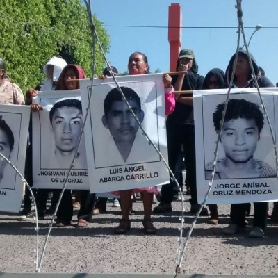
M94 16L104 51L109 36ZM1 0L0 57L8 75L22 90L44 79L43 66L52 56L81 65L92 76L92 35L88 14L80 0ZM105 65L96 46L96 74Z

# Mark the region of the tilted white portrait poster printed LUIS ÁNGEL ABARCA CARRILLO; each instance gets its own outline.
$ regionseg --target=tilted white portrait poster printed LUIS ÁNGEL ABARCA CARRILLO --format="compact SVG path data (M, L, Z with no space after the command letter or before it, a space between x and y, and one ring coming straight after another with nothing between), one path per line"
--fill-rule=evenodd
M117 77L122 92L149 138L167 161L162 74ZM81 81L83 114L91 81ZM112 78L94 80L85 141L90 191L156 186L169 182L169 172L131 115Z

